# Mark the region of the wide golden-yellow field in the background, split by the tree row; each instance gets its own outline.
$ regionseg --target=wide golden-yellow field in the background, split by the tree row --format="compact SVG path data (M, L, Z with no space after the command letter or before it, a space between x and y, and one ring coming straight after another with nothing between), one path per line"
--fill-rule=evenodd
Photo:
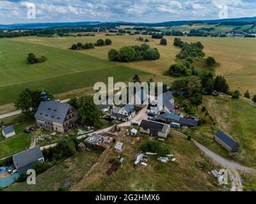
M113 45L106 47L97 47L92 50L79 50L76 53L91 55L100 59L108 59L108 51L111 48L119 49L125 45L140 45L142 42L136 40L140 35L134 36L105 36L105 34L96 34L90 37L67 37L67 38L39 38L39 37L24 37L13 38L13 41L23 41L26 43L35 43L37 45L46 45L47 47L61 48L67 50L73 43L81 41L95 42L99 38L110 38ZM150 36L141 35L142 38ZM120 66L129 66L130 68L139 69L160 76L159 80L170 80L173 78L163 77L164 71L170 68L170 65L175 63L175 55L180 49L173 46L174 36L165 36L168 40L167 46L159 45L159 40L154 39L148 45L156 47L161 57L156 61L140 61L129 63L117 63ZM210 38L210 37L181 37L183 41L195 42L201 41L204 45L204 52L207 56L212 56L216 61L220 62L220 66L216 68L216 75L223 75L232 91L238 90L244 93L247 89L251 94L256 94L256 39L248 38ZM80 56L80 55L79 55ZM46 63L46 62L45 62ZM109 62L110 63L110 62ZM196 65L196 64L195 64Z

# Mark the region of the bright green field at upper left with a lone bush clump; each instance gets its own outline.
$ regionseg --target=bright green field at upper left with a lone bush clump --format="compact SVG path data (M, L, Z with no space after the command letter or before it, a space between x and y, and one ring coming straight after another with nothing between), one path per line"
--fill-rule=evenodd
M40 64L26 64L26 57L33 52L47 61ZM144 71L118 66L110 62L72 50L0 40L0 105L12 103L19 92L26 87L44 87L52 94L92 87L95 82L128 82L135 75L148 75Z

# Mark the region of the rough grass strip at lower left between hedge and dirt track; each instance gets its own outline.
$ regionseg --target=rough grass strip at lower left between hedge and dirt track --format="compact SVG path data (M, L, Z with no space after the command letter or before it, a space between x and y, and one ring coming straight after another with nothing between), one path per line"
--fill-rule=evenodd
M83 178L88 170L97 162L101 152L77 153L65 161L45 171L36 177L36 185L28 185L26 182L16 183L5 189L6 191L58 191L65 184L76 184ZM68 187L70 187L68 186ZM67 188L68 188L67 187Z

